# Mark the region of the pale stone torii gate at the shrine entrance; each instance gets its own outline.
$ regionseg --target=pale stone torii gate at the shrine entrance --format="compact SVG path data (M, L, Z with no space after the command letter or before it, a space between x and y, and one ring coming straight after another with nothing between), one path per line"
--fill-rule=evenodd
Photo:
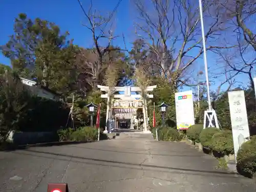
M112 100L111 100L111 95L109 94L110 88L108 86L97 86L100 91L104 91L106 92L105 94L101 94L101 98L107 98L107 107L106 107L106 122L108 121L109 117L111 117L112 114ZM147 94L147 92L153 91L155 88L157 88L157 86L148 86L145 90L146 92L146 97L147 98L154 98L154 95L151 94ZM142 98L141 94L136 94L136 95L132 95L131 92L141 92L141 89L139 87L114 87L112 89L112 91L119 91L119 92L124 92L123 95L113 95L114 98L116 99L123 99L126 100L125 98L134 98L134 100L136 100L137 98L142 99L142 103L143 103L143 121L144 121L144 132L145 133L149 133L150 131L148 131L148 115L147 115L147 101L146 98ZM134 101L133 100L133 101ZM133 107L136 108L136 107ZM107 131L107 127L105 127L105 131Z

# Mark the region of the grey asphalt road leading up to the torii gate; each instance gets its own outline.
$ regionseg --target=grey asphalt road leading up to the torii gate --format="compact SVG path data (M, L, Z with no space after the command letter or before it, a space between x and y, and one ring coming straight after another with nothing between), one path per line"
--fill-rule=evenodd
M94 143L0 152L0 191L46 192L49 182L73 191L252 192L255 180L215 169L216 161L151 134L121 133Z

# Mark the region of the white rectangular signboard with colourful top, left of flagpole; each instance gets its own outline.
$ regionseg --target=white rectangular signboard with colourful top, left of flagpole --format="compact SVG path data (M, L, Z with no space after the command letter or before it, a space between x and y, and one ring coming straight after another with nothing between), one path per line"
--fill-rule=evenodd
M175 93L176 120L178 130L187 130L195 124L193 92L184 91Z

